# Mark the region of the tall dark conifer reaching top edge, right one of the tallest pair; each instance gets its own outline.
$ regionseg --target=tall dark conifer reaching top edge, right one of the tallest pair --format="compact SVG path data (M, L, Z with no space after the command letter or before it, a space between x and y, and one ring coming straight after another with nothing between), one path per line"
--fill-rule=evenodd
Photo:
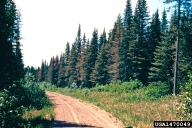
M138 0L134 14L134 35L129 46L131 77L147 83L149 70L148 50L148 8L146 0Z

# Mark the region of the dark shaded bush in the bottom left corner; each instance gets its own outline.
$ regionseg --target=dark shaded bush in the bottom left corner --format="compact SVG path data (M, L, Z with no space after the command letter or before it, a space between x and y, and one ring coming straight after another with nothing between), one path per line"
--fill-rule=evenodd
M20 82L0 91L0 127L21 126L26 98Z

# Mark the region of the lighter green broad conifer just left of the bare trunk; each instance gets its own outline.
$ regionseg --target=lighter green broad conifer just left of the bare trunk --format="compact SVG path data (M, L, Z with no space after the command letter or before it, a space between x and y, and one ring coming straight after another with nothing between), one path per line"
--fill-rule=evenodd
M163 15L163 20L166 20L165 14ZM170 92L173 88L173 65L174 65L174 49L173 46L176 41L176 22L177 16L174 12L171 17L171 23L169 31L166 35L163 34L162 41L159 42L159 45L156 48L154 53L154 63L150 68L149 80L150 82L161 81L170 87ZM166 21L162 21L166 23ZM166 24L162 28L166 28ZM167 30L161 30L162 33L165 33Z

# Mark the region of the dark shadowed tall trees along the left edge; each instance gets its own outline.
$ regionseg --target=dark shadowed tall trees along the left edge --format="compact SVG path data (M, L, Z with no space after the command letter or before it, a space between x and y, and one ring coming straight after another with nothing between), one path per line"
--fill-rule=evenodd
M20 44L20 13L12 0L0 1L0 90L24 75Z

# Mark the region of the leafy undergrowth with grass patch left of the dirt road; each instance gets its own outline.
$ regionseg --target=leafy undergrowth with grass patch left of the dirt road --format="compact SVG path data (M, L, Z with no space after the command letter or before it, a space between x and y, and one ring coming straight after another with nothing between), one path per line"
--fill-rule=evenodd
M38 113L34 113L38 111ZM53 105L27 73L25 78L0 91L0 127L51 127Z

